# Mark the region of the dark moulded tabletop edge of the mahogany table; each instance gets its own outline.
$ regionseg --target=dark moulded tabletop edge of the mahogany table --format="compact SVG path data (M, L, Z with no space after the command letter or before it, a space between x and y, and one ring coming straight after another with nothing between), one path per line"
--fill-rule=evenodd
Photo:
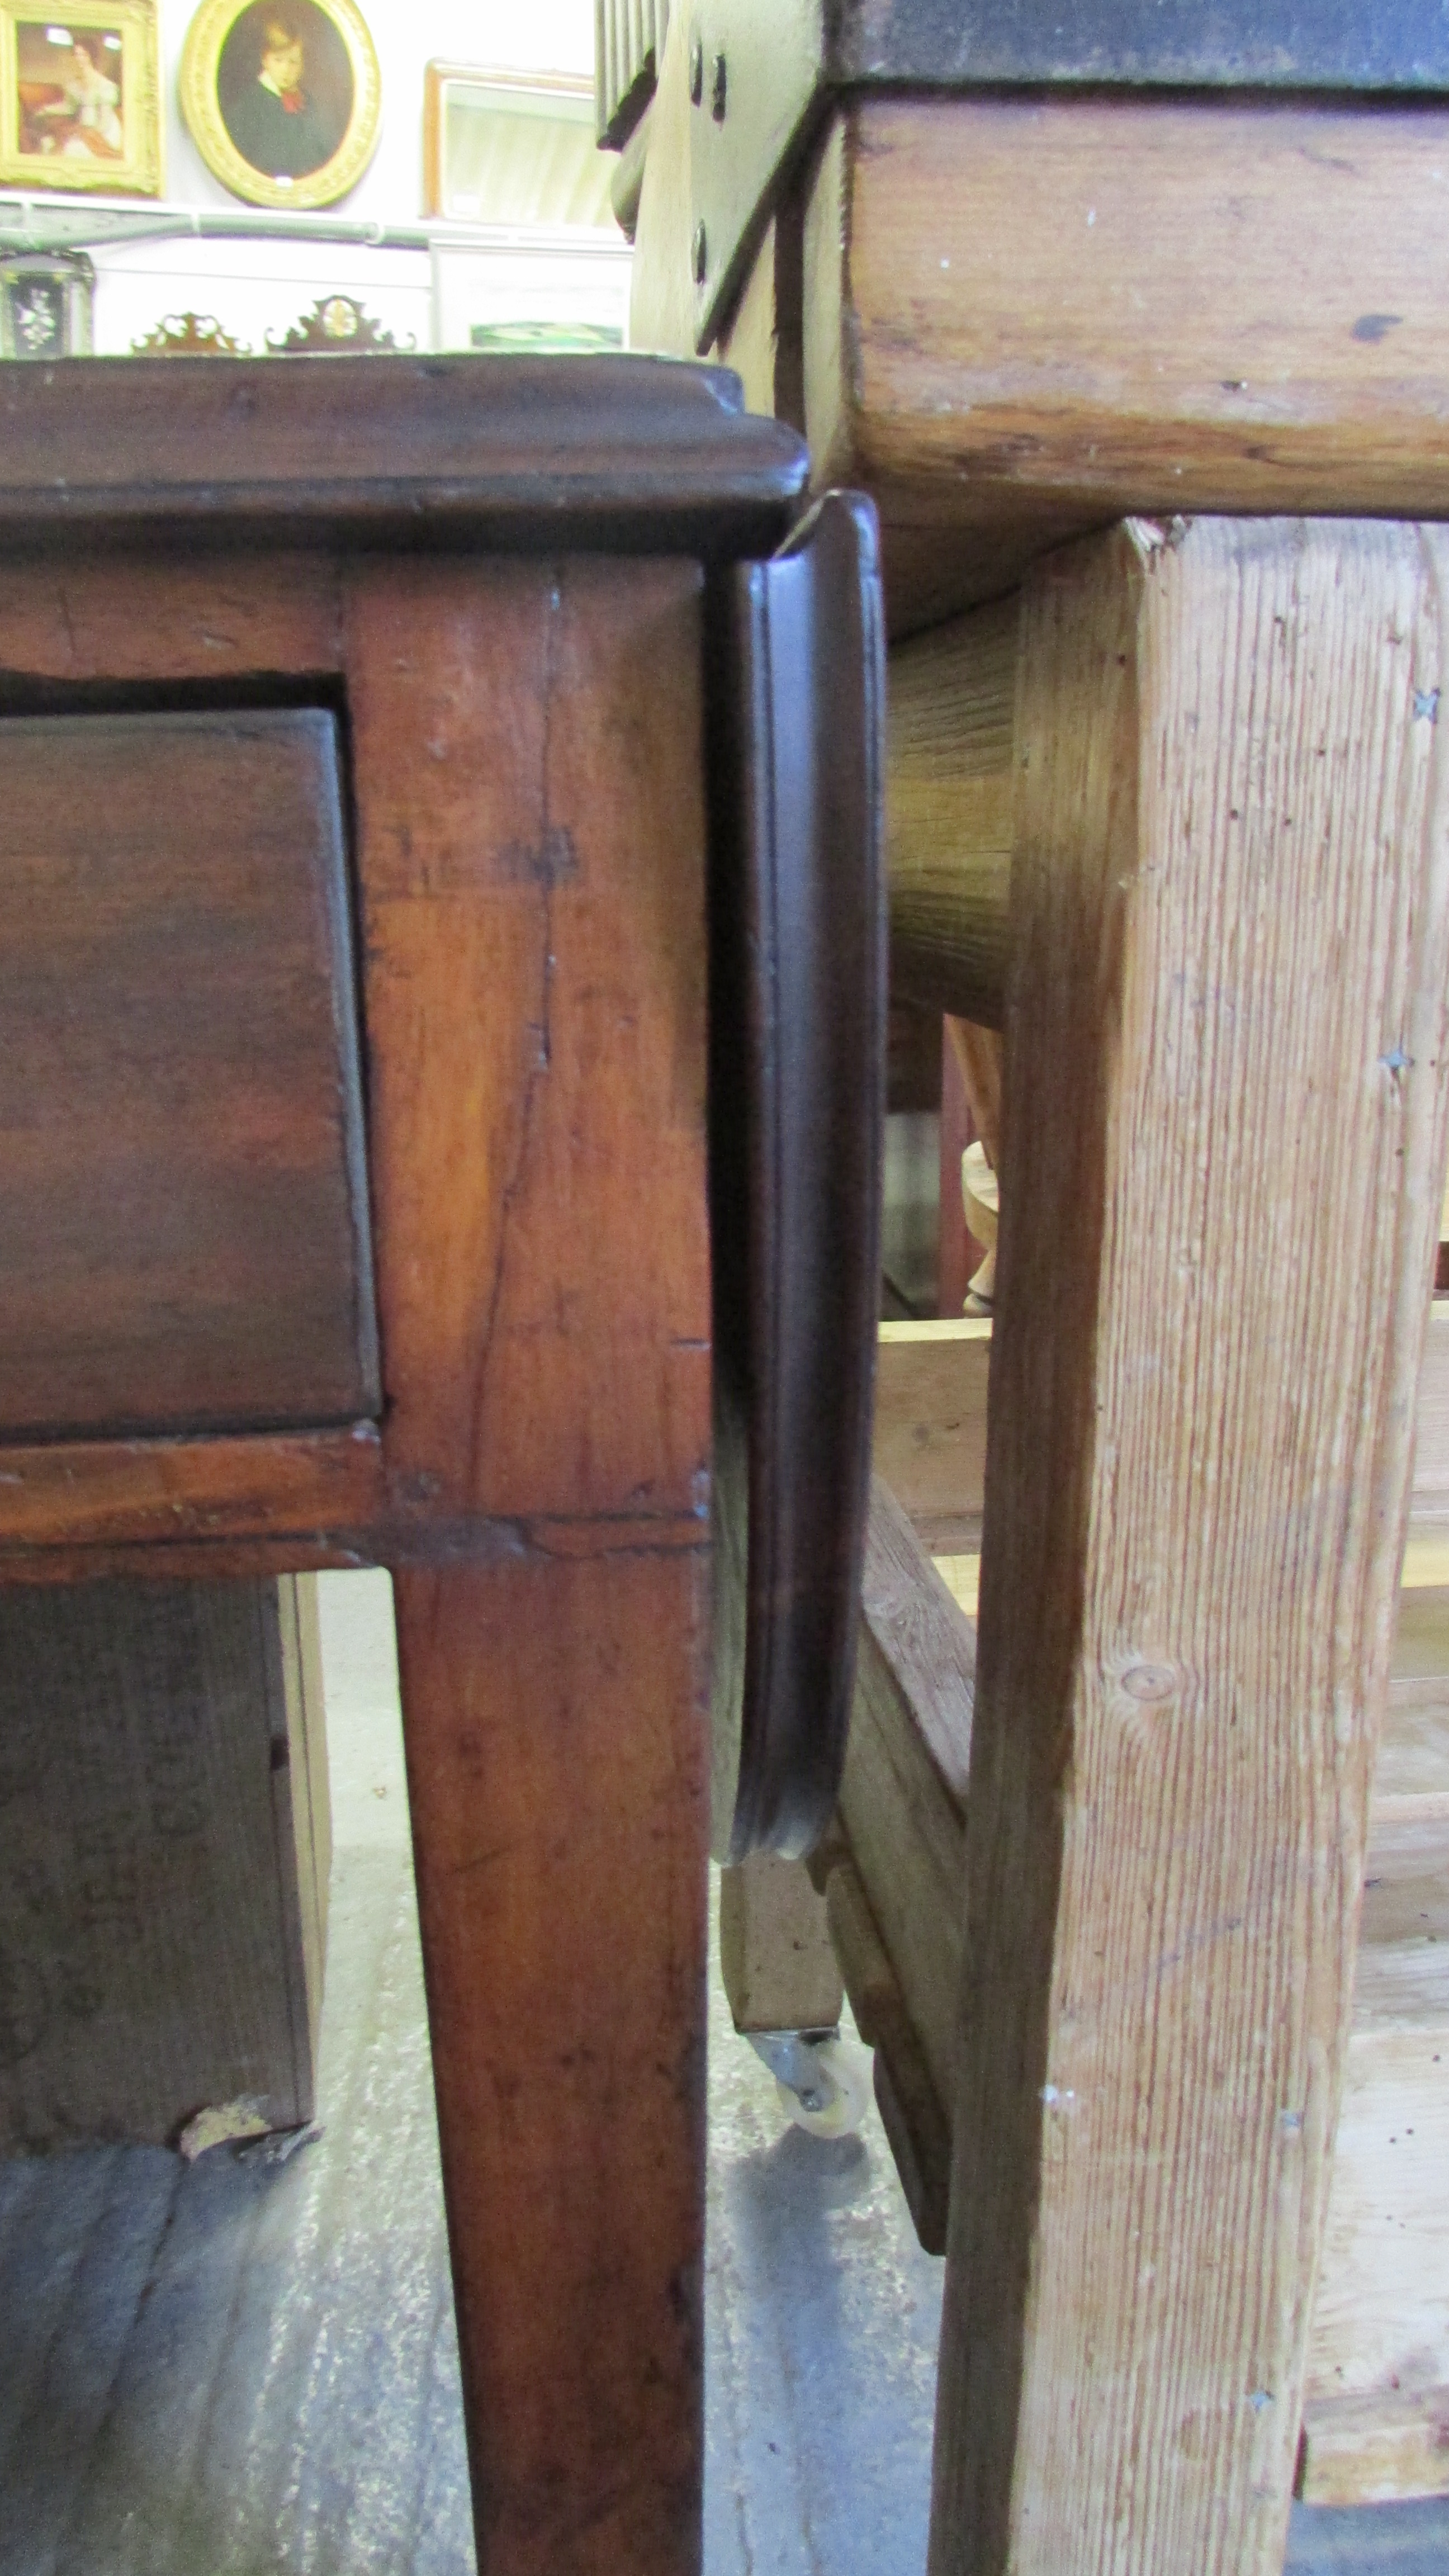
M101 392L101 389L98 389ZM0 366L0 531L126 523L191 546L268 523L374 541L763 554L804 446L717 368L650 358L137 358L77 399L70 368Z

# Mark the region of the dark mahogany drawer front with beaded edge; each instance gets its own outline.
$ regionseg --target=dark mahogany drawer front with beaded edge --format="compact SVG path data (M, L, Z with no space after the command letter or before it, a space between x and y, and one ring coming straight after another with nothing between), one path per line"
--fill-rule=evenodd
M376 1409L333 716L0 726L0 1430Z

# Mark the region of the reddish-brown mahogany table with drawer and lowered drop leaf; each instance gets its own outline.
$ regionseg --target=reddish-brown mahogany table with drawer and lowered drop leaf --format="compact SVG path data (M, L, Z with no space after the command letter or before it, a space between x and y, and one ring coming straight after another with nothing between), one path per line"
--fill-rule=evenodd
M487 2576L699 2566L709 976L745 1839L833 1798L792 1656L848 1703L879 616L864 510L758 562L802 484L650 361L0 368L0 1582L392 1569Z

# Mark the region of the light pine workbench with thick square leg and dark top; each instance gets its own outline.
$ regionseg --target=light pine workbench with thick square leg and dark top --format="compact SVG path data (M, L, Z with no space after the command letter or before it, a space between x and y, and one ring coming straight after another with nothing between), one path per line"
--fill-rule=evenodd
M678 15L634 337L874 495L897 989L1006 1041L931 2571L1271 2576L1444 1182L1444 64L908 0L771 121Z

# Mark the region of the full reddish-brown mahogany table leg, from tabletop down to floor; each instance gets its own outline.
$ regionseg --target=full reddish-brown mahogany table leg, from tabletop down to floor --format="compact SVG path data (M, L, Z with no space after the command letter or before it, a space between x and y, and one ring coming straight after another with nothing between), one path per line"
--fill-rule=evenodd
M397 1577L482 2576L699 2563L701 590L348 577L392 1499L495 1551Z

